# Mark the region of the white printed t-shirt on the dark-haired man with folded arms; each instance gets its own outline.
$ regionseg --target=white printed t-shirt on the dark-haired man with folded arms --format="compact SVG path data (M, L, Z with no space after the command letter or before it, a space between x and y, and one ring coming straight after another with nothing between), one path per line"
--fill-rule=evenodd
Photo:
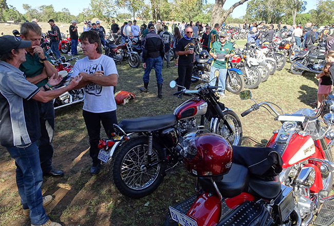
M80 72L92 74L95 71L104 71L104 76L118 74L115 62L109 56L101 55L98 59L89 60L88 56L77 61L73 67L71 77L76 77ZM101 86L96 83L89 83L84 87L85 100L83 108L92 113L101 113L116 110L114 98L114 86Z

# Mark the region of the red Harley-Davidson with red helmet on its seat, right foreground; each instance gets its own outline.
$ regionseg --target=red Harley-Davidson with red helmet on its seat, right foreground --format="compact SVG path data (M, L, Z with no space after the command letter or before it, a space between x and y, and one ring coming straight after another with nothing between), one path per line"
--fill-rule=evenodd
M251 99L251 92L240 92L240 99ZM273 105L282 111L273 103L255 102L242 113L244 117L262 106L270 109L282 126L265 148L233 146L232 163L232 148L221 139L188 135L190 141L183 145L184 163L198 177L197 194L170 207L164 226L334 222L334 196L329 196L334 174L334 96L323 101L317 113L304 108L294 114L279 114ZM323 117L327 127L321 127L318 118L328 109L330 113Z

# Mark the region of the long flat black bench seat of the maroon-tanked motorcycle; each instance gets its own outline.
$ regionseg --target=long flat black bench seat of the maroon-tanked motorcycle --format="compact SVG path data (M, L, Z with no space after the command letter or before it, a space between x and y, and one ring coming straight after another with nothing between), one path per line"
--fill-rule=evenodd
M125 131L125 133L135 133L164 129L175 125L176 122L176 116L168 114L135 119L123 119L118 125Z

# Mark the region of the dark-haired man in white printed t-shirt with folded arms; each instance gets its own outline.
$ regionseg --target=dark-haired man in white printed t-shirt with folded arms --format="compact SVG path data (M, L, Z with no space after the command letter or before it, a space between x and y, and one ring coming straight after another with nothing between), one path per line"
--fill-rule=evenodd
M117 84L118 73L112 58L102 54L101 40L97 32L86 31L80 35L82 51L85 58L79 60L73 67L72 77L82 76L76 87L84 87L85 101L83 117L89 136L89 154L93 164L90 174L100 172L99 140L101 121L107 136L110 138L113 124L117 124L114 86Z

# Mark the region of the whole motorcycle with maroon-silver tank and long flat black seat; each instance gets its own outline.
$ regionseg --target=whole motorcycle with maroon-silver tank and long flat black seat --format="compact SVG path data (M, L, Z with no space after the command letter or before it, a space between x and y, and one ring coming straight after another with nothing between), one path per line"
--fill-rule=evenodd
M171 87L175 87L175 81ZM208 128L240 144L242 125L231 109L218 102L217 87L197 85L196 90L183 89L175 95L193 93L173 114L126 119L114 124L111 139L100 140L98 158L111 161L117 189L125 196L141 198L154 192L166 172L182 161L179 143L182 136L198 128Z

